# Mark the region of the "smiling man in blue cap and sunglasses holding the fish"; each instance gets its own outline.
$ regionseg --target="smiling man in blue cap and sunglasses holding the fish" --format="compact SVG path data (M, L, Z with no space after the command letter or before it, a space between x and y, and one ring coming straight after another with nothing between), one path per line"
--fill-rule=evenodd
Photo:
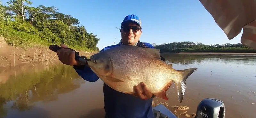
M145 48L154 48L149 43L141 43L139 41L141 31L141 20L138 16L132 14L124 18L121 23L121 41L116 45L105 47L101 51L108 50L120 45L143 46ZM61 44L61 47L67 48ZM57 51L60 61L63 64L74 66L78 75L84 80L95 82L99 77L92 72L87 66L80 66L80 63L74 60L75 52L68 49L60 49ZM67 58L68 57L68 58ZM152 98L154 95L150 93L147 87L141 85L135 86L136 96L125 94L113 90L104 83L104 104L106 118L153 118Z

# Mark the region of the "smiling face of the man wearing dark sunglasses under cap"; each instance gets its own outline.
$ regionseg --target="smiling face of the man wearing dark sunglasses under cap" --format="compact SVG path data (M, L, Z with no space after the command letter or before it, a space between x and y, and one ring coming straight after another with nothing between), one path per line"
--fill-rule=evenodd
M129 27L127 27L129 26ZM138 32L135 32L132 31L132 28L131 26L136 26L139 28ZM125 28L129 29L127 32L125 32ZM136 29L136 28L134 28ZM133 23L130 23L130 24L127 24L127 25L124 25L123 28L121 29L121 36L122 36L122 42L124 43L124 45L133 45L135 43L137 43L140 39L140 35L142 33L142 31L140 30L140 27L137 25L137 24L133 24Z

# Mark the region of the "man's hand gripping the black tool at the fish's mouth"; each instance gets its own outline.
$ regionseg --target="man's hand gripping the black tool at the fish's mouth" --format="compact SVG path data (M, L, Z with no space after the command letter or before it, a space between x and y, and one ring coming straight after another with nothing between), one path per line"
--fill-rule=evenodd
M68 48L68 46L63 43L60 44L60 47L62 48L57 50L57 55L61 63L67 64L70 66L80 65L80 63L75 60L75 51L72 51L70 49L64 49L64 48Z

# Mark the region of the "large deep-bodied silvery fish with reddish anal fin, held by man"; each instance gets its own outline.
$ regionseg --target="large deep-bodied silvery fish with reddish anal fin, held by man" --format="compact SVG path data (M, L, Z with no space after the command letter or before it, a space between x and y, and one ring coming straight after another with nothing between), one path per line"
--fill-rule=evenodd
M99 52L88 61L92 71L112 89L135 94L133 86L145 83L157 97L168 99L166 91L175 83L180 103L185 81L197 68L175 70L160 59L160 50L136 46L117 46Z

